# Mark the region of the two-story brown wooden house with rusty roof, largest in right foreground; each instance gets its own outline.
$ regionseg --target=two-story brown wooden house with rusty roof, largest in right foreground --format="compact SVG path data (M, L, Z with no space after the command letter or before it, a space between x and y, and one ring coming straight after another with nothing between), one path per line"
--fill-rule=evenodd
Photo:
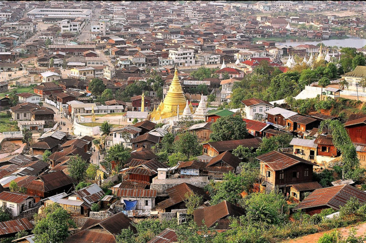
M313 181L316 164L295 155L273 150L256 158L260 161L260 186L267 192L278 187L286 195L290 194L292 184Z

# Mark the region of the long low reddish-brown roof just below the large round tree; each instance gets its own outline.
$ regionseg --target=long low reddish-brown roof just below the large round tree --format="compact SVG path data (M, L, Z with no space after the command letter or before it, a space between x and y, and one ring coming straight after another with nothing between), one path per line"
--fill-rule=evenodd
M259 144L262 142L260 138L248 138L248 139L238 139L230 141L218 141L218 142L208 142L208 144L215 148L219 153L223 151L232 151L237 146L242 145L244 147L258 148Z

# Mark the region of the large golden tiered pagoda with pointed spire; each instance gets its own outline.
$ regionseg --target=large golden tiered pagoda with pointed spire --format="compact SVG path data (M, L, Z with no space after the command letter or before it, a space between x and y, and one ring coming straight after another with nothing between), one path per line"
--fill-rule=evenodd
M173 80L169 86L167 95L164 101L160 103L158 108L151 112L150 119L159 120L172 116L177 113L181 115L186 107L186 97L183 93L182 87L179 83L178 70L175 69ZM179 109L177 111L177 109Z

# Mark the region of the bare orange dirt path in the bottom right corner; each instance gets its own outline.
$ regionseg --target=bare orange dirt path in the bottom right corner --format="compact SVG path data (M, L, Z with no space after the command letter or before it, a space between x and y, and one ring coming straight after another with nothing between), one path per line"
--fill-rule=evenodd
M356 226L349 226L349 227L345 227L345 228L338 228L337 230L339 230L343 236L347 236L352 227L354 227L357 230L356 236L361 236L366 233L366 223L362 223L362 224L359 224ZM300 242L301 243L316 243L316 242L318 242L319 238L323 234L329 233L331 231L333 231L333 229L324 231L324 232L315 233L315 234L309 234L309 235L302 236L302 237L296 238L296 239L285 240L285 241L282 241L281 243L300 243Z

